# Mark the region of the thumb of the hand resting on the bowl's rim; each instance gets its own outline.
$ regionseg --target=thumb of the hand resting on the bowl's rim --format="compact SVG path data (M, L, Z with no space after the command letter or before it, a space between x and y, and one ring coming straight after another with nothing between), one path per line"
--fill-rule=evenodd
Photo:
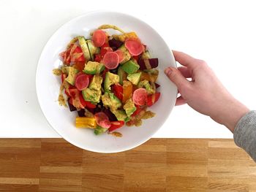
M168 67L165 69L165 74L172 82L174 82L179 90L181 87L189 85L189 81L181 74L181 72L178 71L178 69Z

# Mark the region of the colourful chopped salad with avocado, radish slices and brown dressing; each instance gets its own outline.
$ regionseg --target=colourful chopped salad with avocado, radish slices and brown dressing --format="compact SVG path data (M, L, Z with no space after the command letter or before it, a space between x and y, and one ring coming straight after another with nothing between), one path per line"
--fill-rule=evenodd
M59 104L78 112L76 127L121 137L118 128L154 117L148 107L160 97L158 58L151 58L135 32L99 26L89 39L73 38L60 58L63 65L53 69L61 77Z

